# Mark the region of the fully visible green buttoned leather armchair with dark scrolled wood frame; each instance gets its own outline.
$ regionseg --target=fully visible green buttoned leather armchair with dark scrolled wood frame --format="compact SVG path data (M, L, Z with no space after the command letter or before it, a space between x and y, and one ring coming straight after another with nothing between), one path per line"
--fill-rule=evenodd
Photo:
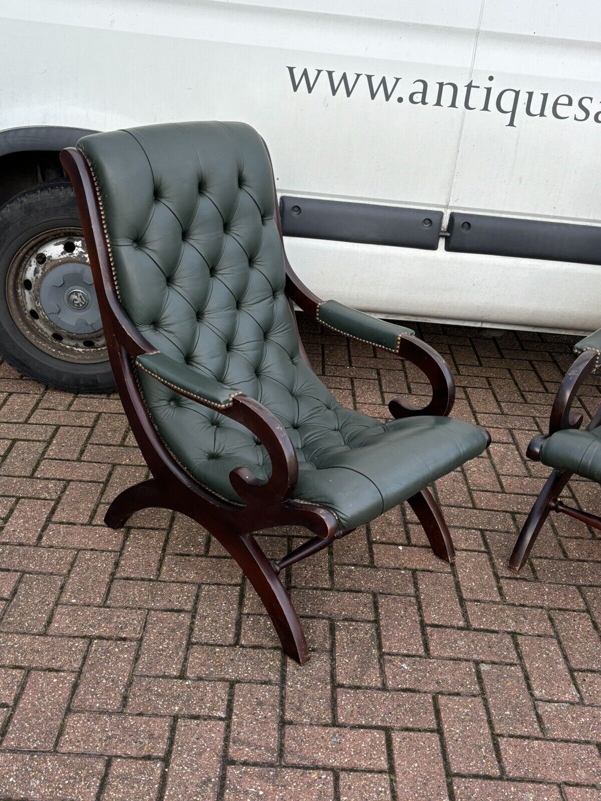
M242 123L87 136L62 154L75 187L107 348L152 477L105 518L176 509L217 537L264 602L284 650L308 657L278 575L407 501L439 557L453 544L427 487L490 443L448 417L449 368L413 331L301 284L284 252L268 151ZM381 423L337 402L300 342L296 303L327 328L422 368L433 394ZM313 533L270 561L252 532Z

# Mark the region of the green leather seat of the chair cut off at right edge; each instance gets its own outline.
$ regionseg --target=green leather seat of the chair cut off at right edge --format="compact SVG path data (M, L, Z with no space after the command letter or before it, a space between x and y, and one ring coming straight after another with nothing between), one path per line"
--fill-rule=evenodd
M543 441L543 465L569 470L601 484L601 427L592 431L563 429Z

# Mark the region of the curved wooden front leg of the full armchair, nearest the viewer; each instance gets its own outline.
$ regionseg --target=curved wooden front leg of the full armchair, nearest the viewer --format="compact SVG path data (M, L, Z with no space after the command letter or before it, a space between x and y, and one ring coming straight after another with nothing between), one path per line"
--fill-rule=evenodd
M252 534L231 534L211 529L224 548L244 571L272 619L284 653L304 665L309 659L305 633L288 593L284 590L272 563L257 545Z

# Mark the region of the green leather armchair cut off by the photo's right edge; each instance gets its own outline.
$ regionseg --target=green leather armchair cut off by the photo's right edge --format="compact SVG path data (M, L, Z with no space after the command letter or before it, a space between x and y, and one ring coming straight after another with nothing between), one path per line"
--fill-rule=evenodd
M601 517L572 509L559 501L559 495L574 474L601 483L601 409L587 428L580 430L583 416L571 408L579 388L599 367L601 328L577 342L574 352L578 358L567 371L555 396L549 432L534 437L526 450L528 458L540 461L553 470L519 533L510 557L511 570L520 570L526 562L543 523L552 511L567 514L595 529L601 529Z

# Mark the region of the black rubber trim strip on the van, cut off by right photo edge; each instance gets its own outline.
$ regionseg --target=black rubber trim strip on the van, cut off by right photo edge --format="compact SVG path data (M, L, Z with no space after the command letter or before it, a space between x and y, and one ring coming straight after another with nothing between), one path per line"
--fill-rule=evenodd
M453 211L445 249L525 259L601 264L601 227Z

